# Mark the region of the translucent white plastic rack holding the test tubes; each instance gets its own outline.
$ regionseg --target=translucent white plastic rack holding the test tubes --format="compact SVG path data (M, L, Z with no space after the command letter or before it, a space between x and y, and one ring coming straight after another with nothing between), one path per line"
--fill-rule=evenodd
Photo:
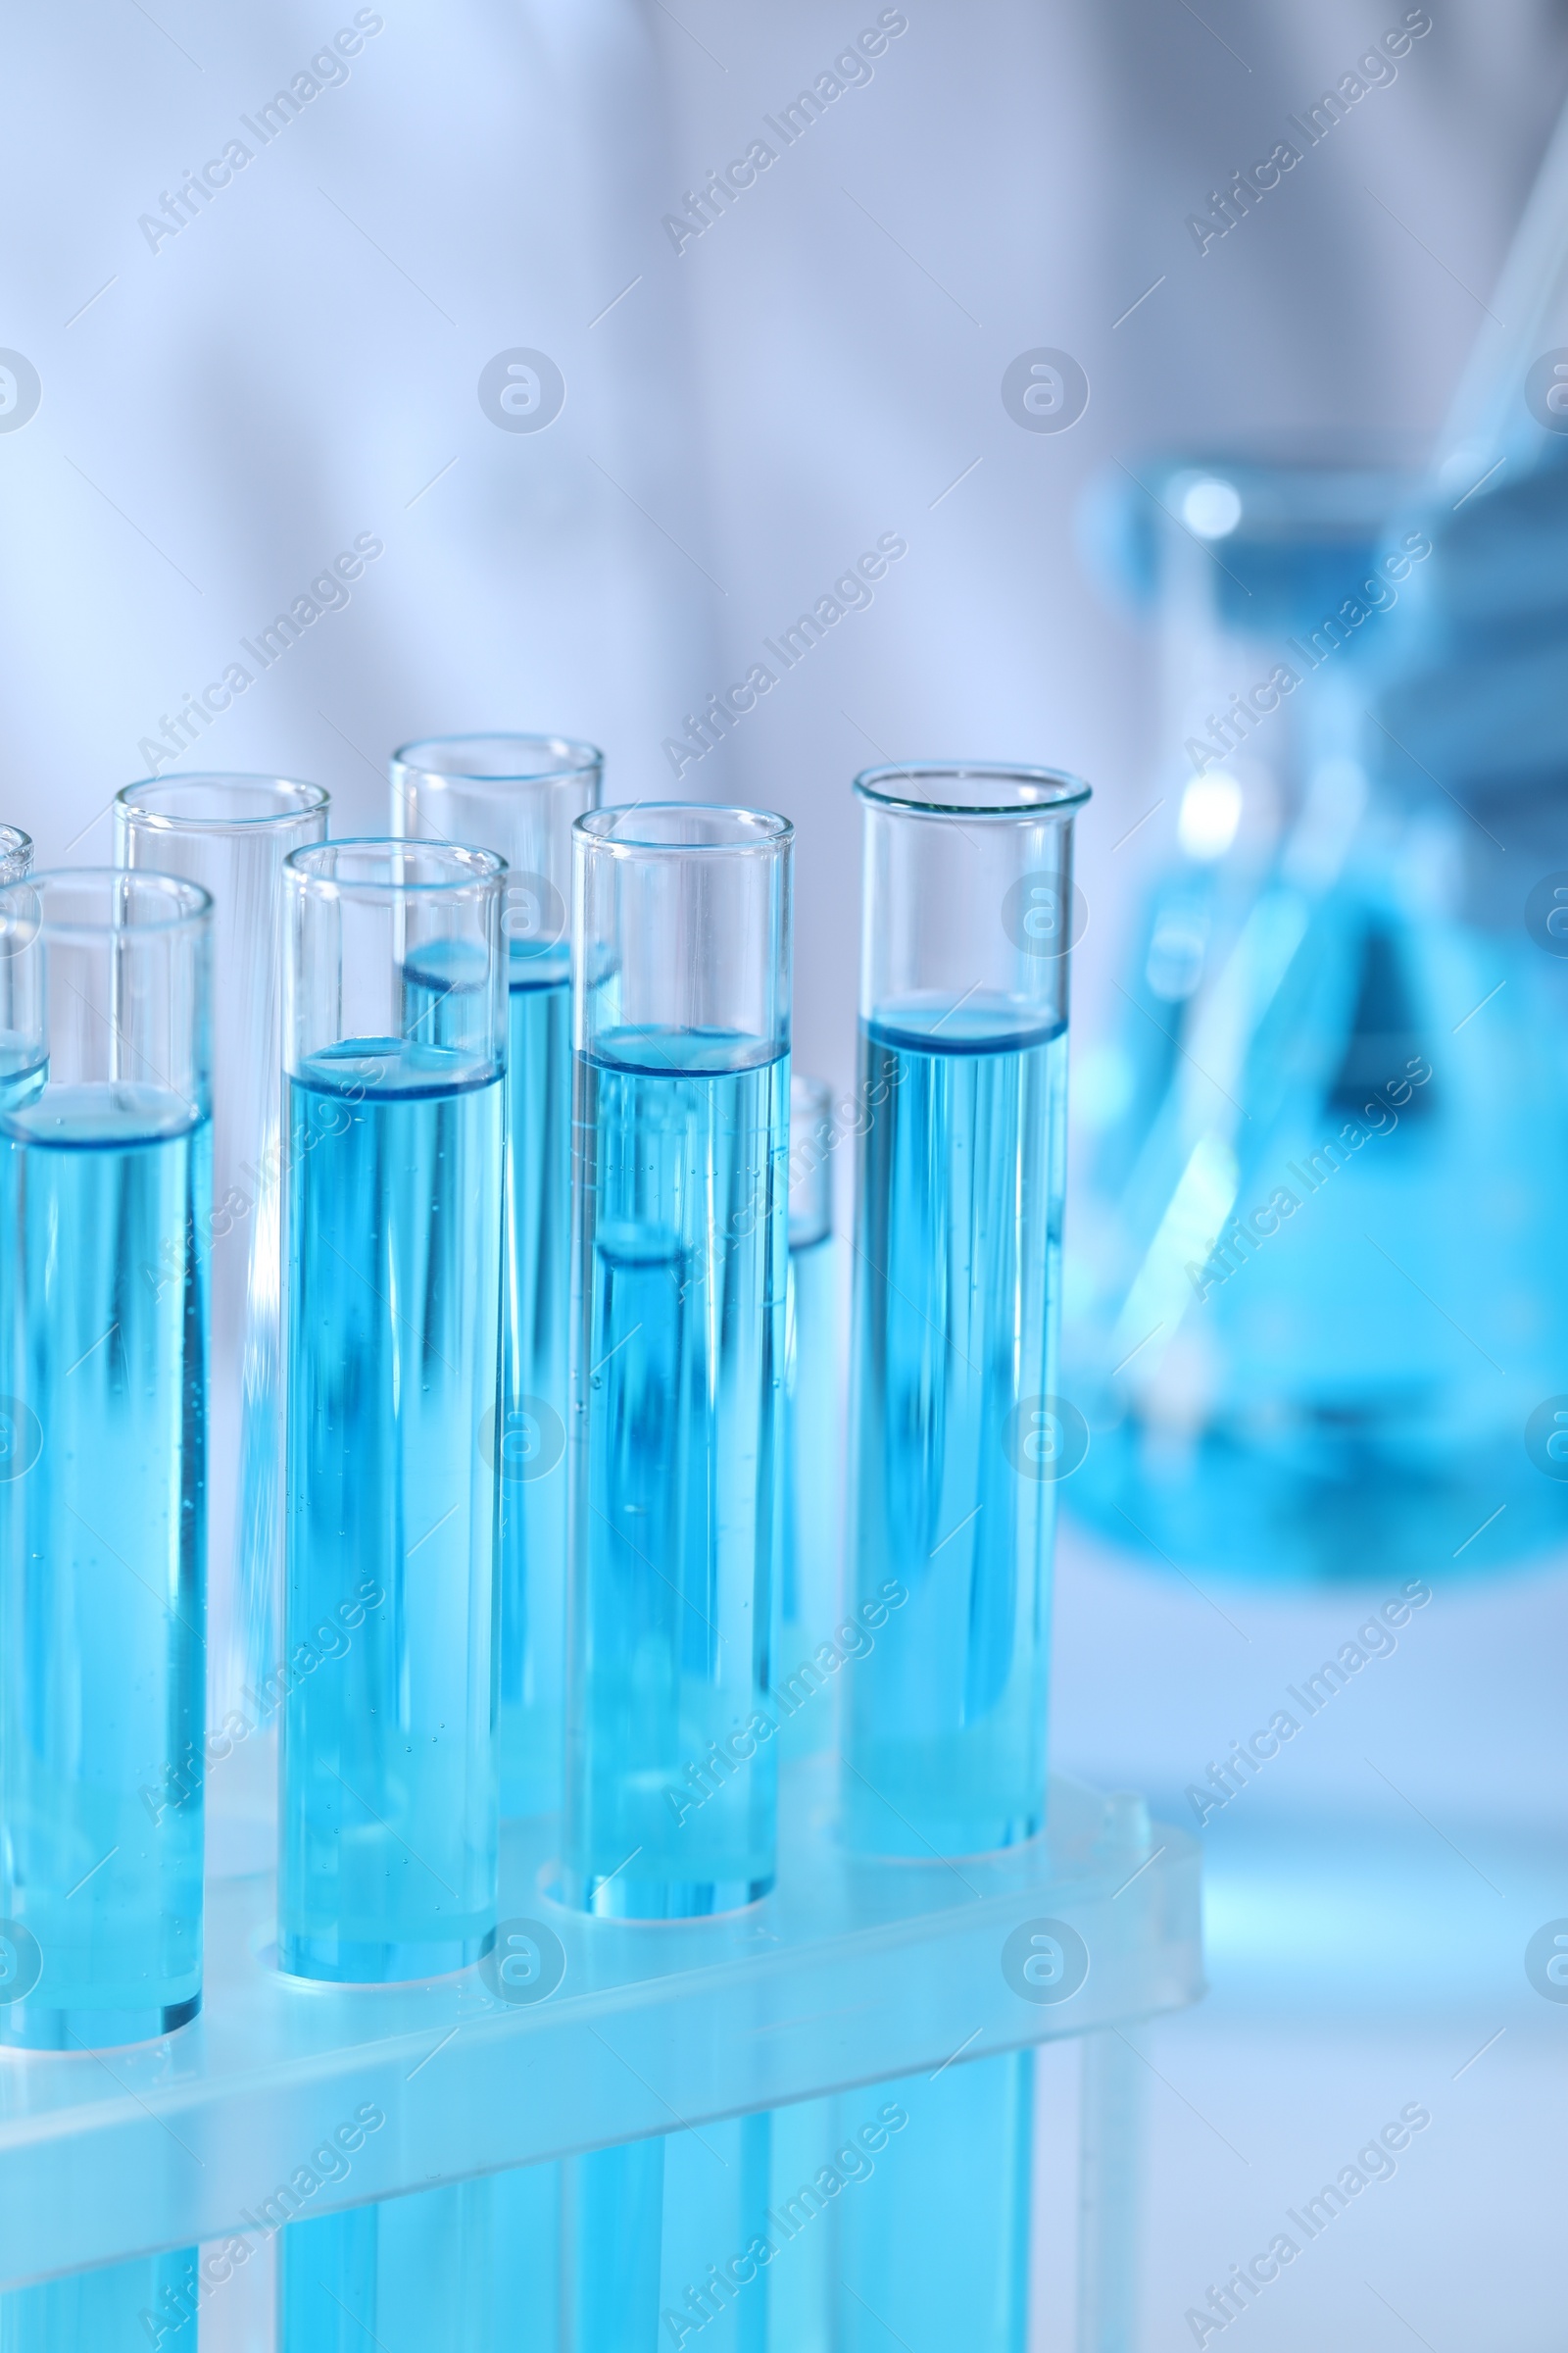
M959 2045L959 2066L1063 2035L1117 2047L1110 2031L1201 1993L1197 1842L1135 1798L1058 1779L1027 1845L867 1861L837 1838L835 1760L811 1758L785 1769L780 1821L771 1897L658 1925L559 1906L555 1821L510 1824L503 1937L529 1922L545 1958L515 1988L494 1965L383 1988L287 1979L270 1878L209 1882L193 2026L106 2054L5 2054L0 2287L266 2233L289 2212L280 2186L362 2106L386 2127L350 2132L346 2174L296 2193L294 2212L931 2073ZM1065 1995L1077 1969L1032 1984L1020 1960L1063 1927L1086 1960ZM1084 2193L1103 2202L1131 2153L1091 2099L1081 2137L1098 2153ZM1103 2219L1093 2245L1126 2254ZM1079 2271L1084 2299L1095 2285Z

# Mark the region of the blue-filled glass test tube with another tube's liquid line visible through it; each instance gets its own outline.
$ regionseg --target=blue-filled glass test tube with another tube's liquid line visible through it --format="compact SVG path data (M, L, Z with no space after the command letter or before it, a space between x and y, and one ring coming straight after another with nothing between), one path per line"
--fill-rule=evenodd
M567 1892L773 1885L790 826L578 819Z

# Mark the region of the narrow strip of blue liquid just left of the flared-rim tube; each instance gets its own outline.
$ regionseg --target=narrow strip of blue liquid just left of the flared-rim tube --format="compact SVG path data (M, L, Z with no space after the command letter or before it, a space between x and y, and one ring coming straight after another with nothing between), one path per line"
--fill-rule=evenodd
M778 1680L802 1687L839 1605L839 1261L830 1233L790 1242L790 1379L785 1402L785 1527ZM806 1675L804 1685L816 1675ZM835 1680L780 1725L783 1753L816 1755L835 1737Z

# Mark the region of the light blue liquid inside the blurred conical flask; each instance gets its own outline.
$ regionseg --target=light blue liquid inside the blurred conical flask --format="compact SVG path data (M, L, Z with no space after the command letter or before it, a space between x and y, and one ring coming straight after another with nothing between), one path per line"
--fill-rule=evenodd
M1309 908L1265 896L1258 939L1298 946L1227 1000L1246 1118L1218 1101L1201 1134L1147 1089L1091 1179L1065 1355L1095 1438L1065 1499L1206 1591L1488 1577L1568 1541L1526 1435L1568 1388L1568 967L1514 904L1505 929L1394 896L1366 861ZM1161 1009L1182 1052L1199 1002Z

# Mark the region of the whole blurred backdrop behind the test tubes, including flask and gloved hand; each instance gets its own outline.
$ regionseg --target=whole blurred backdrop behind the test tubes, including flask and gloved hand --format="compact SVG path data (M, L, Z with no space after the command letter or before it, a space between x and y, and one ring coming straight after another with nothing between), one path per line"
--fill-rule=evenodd
M1053 1748L1201 1831L1213 1986L1138 2035L1140 2341L1425 2104L1251 2334L1561 2346L1568 207L1516 240L1568 9L82 0L5 54L0 821L40 866L108 859L148 772L378 833L409 736L588 736L607 800L795 819L797 1066L842 1087L851 774L1093 784ZM1215 1266L1279 1188L1300 1228Z

